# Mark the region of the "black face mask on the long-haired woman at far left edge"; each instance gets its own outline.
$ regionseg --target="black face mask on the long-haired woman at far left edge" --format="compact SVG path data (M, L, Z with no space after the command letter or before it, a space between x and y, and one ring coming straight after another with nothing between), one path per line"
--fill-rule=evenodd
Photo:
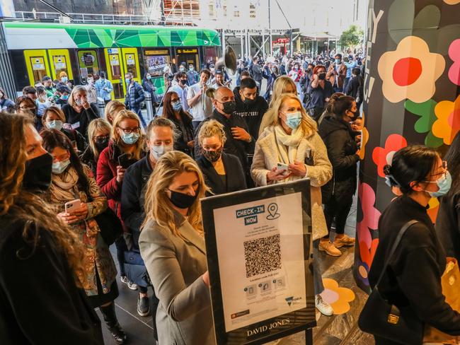
M51 185L52 156L45 153L25 162L23 188L47 190Z

